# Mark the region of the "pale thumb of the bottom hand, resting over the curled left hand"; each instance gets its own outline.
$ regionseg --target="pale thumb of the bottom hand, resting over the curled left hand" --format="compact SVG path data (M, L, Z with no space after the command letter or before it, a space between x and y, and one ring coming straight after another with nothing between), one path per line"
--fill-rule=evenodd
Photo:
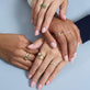
M40 38L40 40L35 41L33 44L29 45L27 48L30 48L30 49L40 48L43 43L44 43L44 38Z

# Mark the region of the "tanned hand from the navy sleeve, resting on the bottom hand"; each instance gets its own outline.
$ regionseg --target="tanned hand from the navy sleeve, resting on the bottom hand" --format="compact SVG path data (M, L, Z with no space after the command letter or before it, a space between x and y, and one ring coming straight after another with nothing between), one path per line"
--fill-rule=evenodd
M63 58L74 61L77 47L81 41L79 29L70 20L61 21L54 18L49 26L49 32L54 34L56 41L59 43ZM43 35L52 47L56 47L56 41L49 32Z

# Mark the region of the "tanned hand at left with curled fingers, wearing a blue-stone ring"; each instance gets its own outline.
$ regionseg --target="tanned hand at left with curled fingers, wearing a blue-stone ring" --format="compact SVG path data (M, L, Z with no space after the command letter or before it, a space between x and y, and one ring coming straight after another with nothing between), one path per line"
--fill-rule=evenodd
M5 61L29 70L35 54L38 49L27 49L31 42L24 35L18 34L0 34L0 57ZM29 60L25 60L26 54L30 54Z

